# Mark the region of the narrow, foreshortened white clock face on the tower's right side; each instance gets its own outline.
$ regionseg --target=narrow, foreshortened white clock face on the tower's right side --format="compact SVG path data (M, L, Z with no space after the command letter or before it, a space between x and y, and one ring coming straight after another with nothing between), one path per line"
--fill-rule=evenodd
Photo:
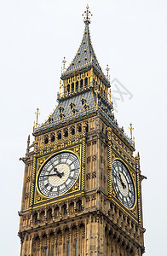
M114 160L112 164L112 183L118 195L119 201L124 207L132 208L135 204L135 188L130 172L119 160Z

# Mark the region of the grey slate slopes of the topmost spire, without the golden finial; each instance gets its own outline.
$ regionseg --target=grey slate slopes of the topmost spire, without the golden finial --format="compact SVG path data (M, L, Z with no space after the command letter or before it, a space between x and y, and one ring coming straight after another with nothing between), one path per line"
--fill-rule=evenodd
M96 59L95 51L91 44L88 23L85 23L83 40L79 46L78 52L75 55L72 63L66 69L66 73L69 73L70 71L72 71L72 69L78 69L79 67L82 68L83 66L86 66L86 65L89 66L90 63L95 64L95 67L97 67L100 70L100 65ZM66 75L66 73L64 73L64 75Z

